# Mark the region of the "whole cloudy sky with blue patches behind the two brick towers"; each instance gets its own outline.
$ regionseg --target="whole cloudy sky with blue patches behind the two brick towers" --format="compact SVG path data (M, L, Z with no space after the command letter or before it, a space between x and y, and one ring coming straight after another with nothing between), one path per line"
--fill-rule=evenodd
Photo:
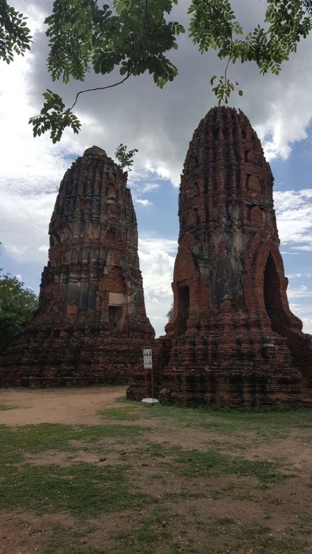
M183 35L170 54L179 75L161 91L150 75L131 78L110 91L81 95L76 114L80 134L65 132L53 145L48 136L33 139L28 117L42 107L46 88L60 93L67 105L81 84L50 81L46 71L47 39L43 19L49 0L16 1L29 16L32 52L13 64L0 65L0 240L3 270L18 275L39 291L48 259L48 224L56 189L71 162L91 145L114 157L122 142L139 148L129 184L139 227L140 264L146 310L156 335L163 333L171 304L171 280L177 249L177 196L188 142L198 122L216 103L209 79L221 75L224 63L214 53L201 56ZM265 3L235 0L245 29L260 22ZM174 17L187 24L188 2L181 0ZM289 277L290 307L312 332L312 36L277 77L258 74L252 64L234 65L229 76L239 81L243 98L233 96L257 130L270 161L281 252ZM89 75L83 88L114 83L117 74Z

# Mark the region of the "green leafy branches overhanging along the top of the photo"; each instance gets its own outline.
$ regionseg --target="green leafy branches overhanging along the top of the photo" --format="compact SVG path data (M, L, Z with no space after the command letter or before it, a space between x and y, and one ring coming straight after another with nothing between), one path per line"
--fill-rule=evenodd
M52 81L84 81L91 70L107 75L116 68L121 79L79 91L71 107L65 107L58 94L47 90L40 114L29 120L34 136L49 131L52 141L57 142L66 127L78 133L81 124L72 110L79 95L90 90L112 88L146 71L161 89L172 81L178 70L167 53L177 49L177 37L185 32L179 22L168 18L177 3L112 0L108 5L102 0L55 0L52 14L45 19ZM214 49L221 60L226 60L224 74L213 75L210 81L219 105L228 103L234 89L243 94L238 83L227 76L230 63L253 61L260 73L278 75L283 61L296 52L312 26L312 0L267 0L264 21L245 36L230 0L192 0L188 13L188 34L200 52ZM6 0L0 0L0 22L0 59L9 63L13 50L22 53L29 48L31 37L22 14L9 8Z

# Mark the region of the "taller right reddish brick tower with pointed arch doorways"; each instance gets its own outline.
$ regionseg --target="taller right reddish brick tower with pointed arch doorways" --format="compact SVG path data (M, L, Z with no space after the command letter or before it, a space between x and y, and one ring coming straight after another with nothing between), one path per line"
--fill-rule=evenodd
M311 336L289 310L272 187L247 117L210 110L181 176L174 315L154 346L162 400L312 401ZM134 373L129 397L142 393Z

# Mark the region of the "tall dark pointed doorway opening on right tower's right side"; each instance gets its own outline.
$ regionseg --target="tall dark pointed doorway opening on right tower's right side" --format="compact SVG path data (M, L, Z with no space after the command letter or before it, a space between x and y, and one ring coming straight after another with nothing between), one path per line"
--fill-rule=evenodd
M265 264L263 294L265 309L271 320L272 330L279 335L287 336L290 320L283 309L279 276L272 254L269 254L267 263Z

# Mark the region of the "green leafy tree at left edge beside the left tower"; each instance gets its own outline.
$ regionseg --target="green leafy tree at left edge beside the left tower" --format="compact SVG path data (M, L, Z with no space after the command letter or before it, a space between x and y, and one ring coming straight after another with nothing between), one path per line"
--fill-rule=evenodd
M38 297L17 277L0 275L0 351L21 334L37 304Z

